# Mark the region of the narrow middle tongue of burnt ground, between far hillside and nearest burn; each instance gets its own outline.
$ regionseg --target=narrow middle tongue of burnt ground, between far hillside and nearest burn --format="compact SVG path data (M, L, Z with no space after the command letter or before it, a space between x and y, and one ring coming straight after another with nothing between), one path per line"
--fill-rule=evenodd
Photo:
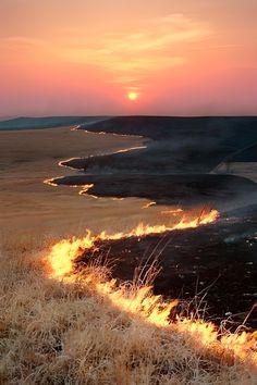
M158 204L182 207L209 206L216 209L244 204L257 200L257 184L236 175L213 174L98 174L64 176L58 185L84 186L97 197L138 197L155 200ZM86 192L87 194L87 192Z

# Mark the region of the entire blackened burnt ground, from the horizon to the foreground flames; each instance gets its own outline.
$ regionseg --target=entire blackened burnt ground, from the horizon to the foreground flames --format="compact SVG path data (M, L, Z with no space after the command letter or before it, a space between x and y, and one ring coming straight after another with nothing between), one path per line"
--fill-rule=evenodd
M140 135L147 147L63 162L79 174L57 184L94 184L89 194L99 197L209 206L222 218L196 229L101 243L77 264L108 254L113 276L127 281L149 256L158 257L156 294L180 298L182 312L188 310L183 303L192 300L189 310L195 310L203 299L205 316L217 324L229 316L227 326L235 328L257 301L257 184L211 172L221 162L257 161L257 117L120 116L81 128ZM238 207L247 208L228 212ZM257 328L256 309L247 325Z

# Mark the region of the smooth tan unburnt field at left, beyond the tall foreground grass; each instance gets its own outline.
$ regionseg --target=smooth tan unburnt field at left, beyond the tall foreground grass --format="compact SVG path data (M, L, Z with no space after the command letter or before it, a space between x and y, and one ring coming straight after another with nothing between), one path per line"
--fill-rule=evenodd
M142 201L119 202L78 196L78 189L53 188L44 179L73 173L58 163L72 157L109 153L140 145L138 137L88 134L69 127L0 132L0 228L24 236L74 232L81 226L99 232L107 224L139 216ZM138 220L136 220L137 222Z

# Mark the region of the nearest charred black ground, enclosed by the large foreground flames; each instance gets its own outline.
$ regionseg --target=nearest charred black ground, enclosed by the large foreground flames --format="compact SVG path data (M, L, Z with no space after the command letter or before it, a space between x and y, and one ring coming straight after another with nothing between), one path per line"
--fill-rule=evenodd
M195 229L101 241L98 247L82 254L77 266L108 254L112 276L124 282L157 259L154 291L181 299L184 314L198 307L206 319L217 324L228 319L227 327L234 330L257 301L257 206ZM257 309L246 325L257 328Z

